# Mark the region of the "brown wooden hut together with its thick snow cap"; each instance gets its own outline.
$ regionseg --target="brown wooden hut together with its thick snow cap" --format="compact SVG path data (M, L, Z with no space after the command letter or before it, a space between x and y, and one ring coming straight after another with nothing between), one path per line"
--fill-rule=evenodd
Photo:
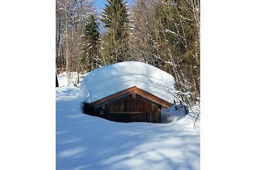
M116 122L161 122L174 101L172 75L143 62L119 62L85 74L83 111Z

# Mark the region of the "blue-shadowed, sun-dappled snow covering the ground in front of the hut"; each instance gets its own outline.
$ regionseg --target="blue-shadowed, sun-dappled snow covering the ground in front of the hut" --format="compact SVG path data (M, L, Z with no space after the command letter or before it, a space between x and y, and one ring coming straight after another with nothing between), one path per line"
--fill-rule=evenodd
M200 129L84 115L77 87L56 88L56 169L200 169Z

